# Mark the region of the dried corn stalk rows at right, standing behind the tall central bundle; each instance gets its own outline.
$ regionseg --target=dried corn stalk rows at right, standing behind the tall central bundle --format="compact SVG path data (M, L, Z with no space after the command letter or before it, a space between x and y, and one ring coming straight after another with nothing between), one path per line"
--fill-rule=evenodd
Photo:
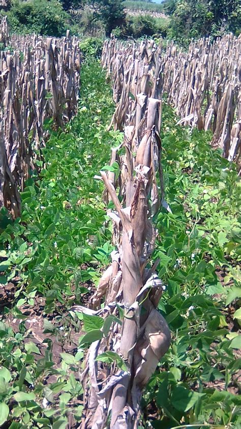
M181 118L178 123L212 130L212 145L222 148L229 160L237 160L241 152L240 42L240 36L231 34L214 43L200 39L184 52L173 43L163 48L153 40L125 46L114 39L106 41L102 64L112 74L118 103L112 121L115 128L122 129L129 121L130 106L135 109L138 99L154 93L160 97L164 92Z

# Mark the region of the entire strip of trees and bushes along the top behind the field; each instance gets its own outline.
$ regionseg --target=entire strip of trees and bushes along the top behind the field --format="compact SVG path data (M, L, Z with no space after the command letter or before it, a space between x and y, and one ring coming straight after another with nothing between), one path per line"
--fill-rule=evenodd
M114 31L120 38L156 36L187 46L192 38L239 34L241 28L241 6L235 0L165 0L160 5L121 0L11 0L8 9L4 13L13 32L49 36L64 35L67 28L81 36L106 37ZM163 11L166 18L155 15Z

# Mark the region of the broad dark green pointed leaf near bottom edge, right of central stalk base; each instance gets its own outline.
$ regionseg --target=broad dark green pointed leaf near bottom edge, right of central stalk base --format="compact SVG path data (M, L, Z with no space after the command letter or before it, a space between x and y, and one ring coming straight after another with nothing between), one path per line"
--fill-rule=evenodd
M186 412L192 408L199 397L203 396L204 393L192 392L182 386L175 386L172 390L171 404L173 407L182 412Z

